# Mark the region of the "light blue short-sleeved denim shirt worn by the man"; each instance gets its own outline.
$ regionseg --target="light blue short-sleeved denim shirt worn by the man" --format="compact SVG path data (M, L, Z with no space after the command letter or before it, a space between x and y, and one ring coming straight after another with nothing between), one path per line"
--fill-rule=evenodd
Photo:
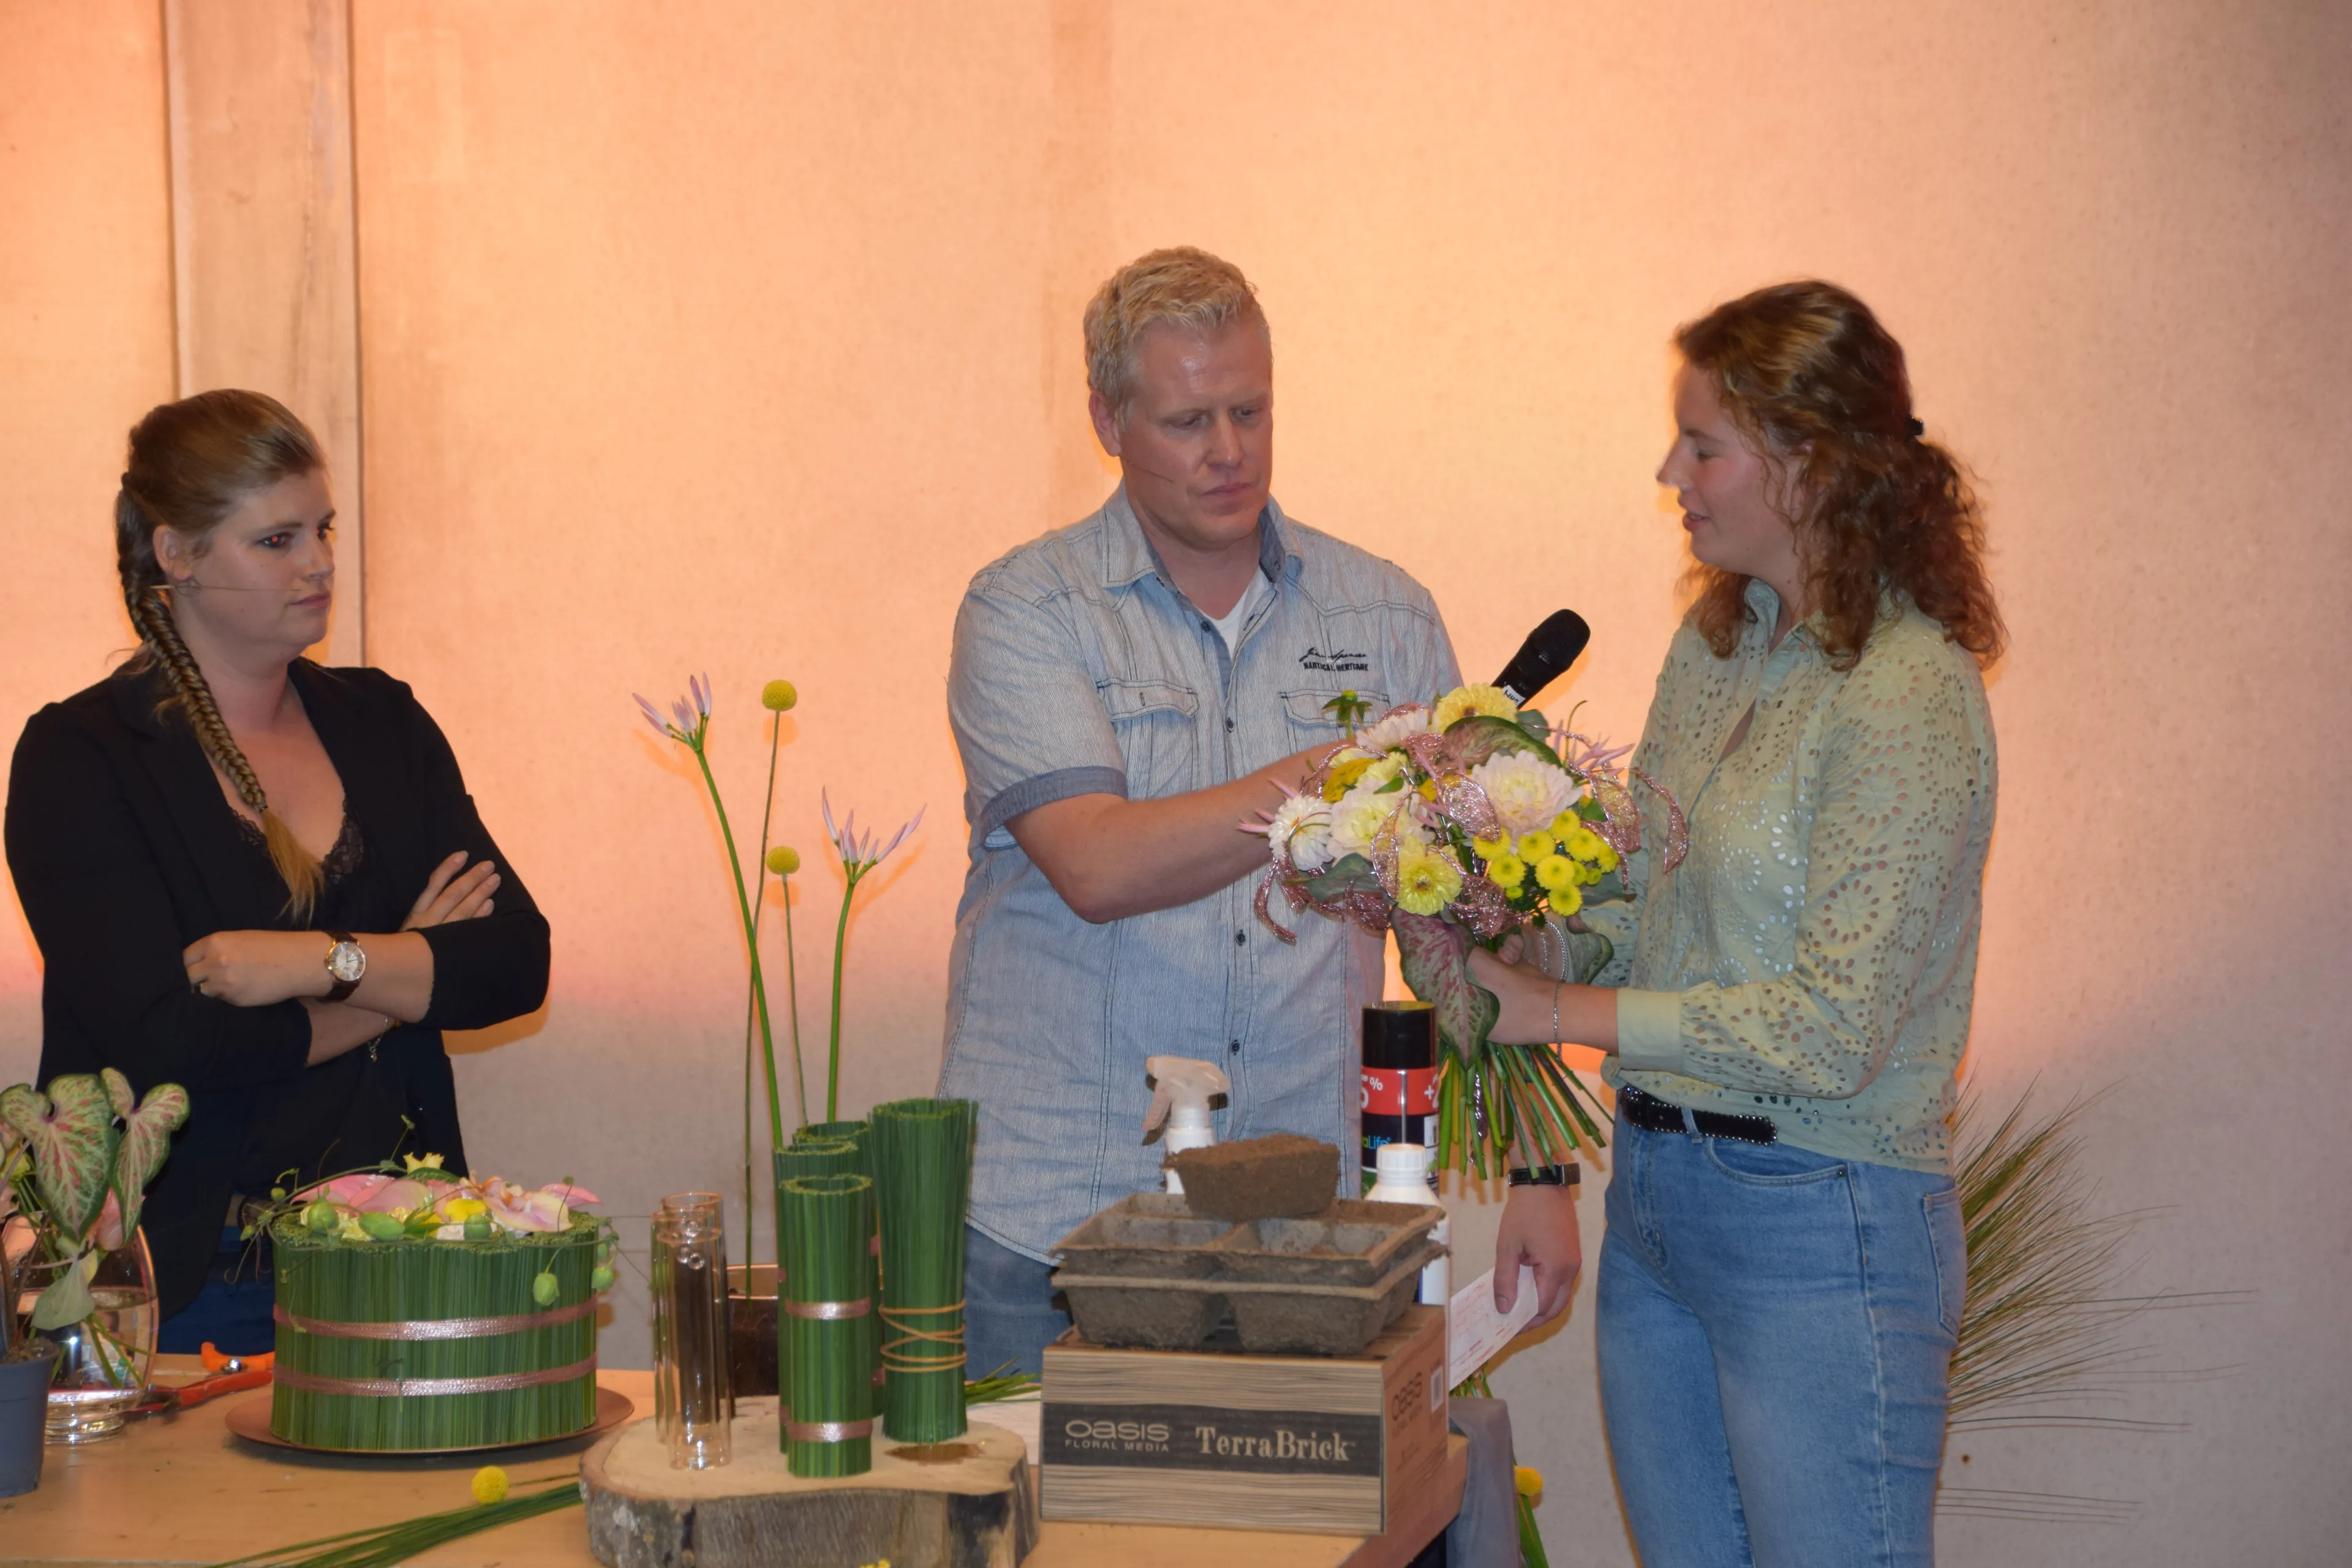
M941 1093L978 1100L971 1222L1030 1258L1087 1215L1160 1185L1143 1143L1143 1060L1232 1079L1221 1140L1305 1133L1355 1178L1357 1018L1381 997L1381 938L1315 914L1251 914L1256 872L1207 898L1089 924L1004 823L1073 795L1162 799L1338 741L1352 689L1381 715L1461 684L1428 590L1268 501L1272 585L1235 649L1167 576L1124 489L971 578L948 717L971 823L948 964ZM1352 1190L1352 1187L1350 1187Z

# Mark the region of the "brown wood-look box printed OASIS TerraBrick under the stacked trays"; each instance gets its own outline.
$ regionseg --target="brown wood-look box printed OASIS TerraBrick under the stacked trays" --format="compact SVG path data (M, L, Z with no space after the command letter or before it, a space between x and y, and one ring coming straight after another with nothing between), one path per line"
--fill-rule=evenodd
M1406 1307L1352 1356L1044 1352L1047 1519L1381 1535L1439 1483L1446 1314Z

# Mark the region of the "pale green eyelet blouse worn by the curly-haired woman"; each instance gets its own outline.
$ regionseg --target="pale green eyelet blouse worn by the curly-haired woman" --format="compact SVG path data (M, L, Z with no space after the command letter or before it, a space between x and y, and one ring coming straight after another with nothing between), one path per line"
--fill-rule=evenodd
M1771 646L1769 585L1748 609L1731 658L1675 635L1635 750L1689 811L1691 853L1656 875L1663 813L1644 813L1637 903L1585 914L1618 943L1604 1077L1771 1117L1816 1154L1945 1171L1999 778L1985 682L1900 599L1851 670L1813 623Z

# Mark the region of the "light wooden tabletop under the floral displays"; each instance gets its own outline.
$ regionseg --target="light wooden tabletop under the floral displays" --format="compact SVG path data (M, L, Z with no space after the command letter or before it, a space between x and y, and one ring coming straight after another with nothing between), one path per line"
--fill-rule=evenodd
M186 1382L195 1356L158 1356L155 1380ZM640 1415L654 1408L652 1373L597 1373L628 1394ZM40 1488L0 1497L0 1568L132 1568L219 1563L320 1535L341 1535L463 1507L473 1472L499 1462L527 1483L579 1474L583 1439L515 1455L386 1460L296 1453L230 1436L228 1410L268 1389L226 1394L179 1415L132 1422L118 1439L49 1448ZM1446 1481L1418 1516L1388 1535L1287 1535L1275 1530L1181 1530L1169 1526L1047 1523L1025 1568L1192 1568L1237 1561L1265 1568L1397 1568L1461 1507L1468 1443L1451 1439ZM562 1509L437 1547L419 1568L595 1568L581 1514ZM828 1566L811 1566L828 1568Z

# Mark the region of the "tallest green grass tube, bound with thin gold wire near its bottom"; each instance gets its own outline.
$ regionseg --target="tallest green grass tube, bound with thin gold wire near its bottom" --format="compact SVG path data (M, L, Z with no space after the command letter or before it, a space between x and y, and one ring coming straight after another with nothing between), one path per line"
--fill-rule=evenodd
M873 1110L882 1204L882 1432L901 1443L964 1434L964 1201L971 1100Z

